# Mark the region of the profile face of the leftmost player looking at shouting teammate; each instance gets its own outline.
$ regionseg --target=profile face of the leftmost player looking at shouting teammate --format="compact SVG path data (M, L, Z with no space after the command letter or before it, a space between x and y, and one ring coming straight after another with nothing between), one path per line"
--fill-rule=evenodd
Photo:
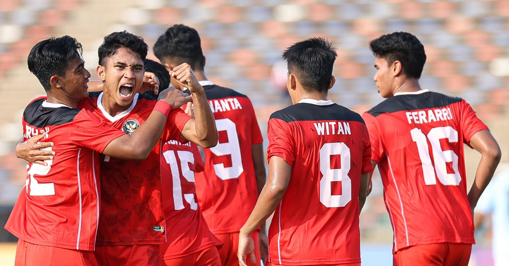
M67 91L72 99L81 100L88 97L88 81L90 72L85 68L85 62L78 55L69 61L65 70L65 91Z

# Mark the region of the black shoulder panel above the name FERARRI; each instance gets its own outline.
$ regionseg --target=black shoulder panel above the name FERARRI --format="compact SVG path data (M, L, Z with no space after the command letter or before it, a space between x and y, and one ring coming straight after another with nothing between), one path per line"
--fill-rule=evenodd
M383 113L393 113L397 111L445 107L453 103L461 102L462 100L463 99L459 97L451 97L435 92L398 95L386 99L367 112L373 116L378 116Z

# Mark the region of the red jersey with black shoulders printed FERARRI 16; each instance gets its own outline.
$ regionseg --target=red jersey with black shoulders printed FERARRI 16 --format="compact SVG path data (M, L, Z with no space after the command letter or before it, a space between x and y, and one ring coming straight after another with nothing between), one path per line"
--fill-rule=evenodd
M475 243L463 143L488 128L461 98L427 90L396 95L363 114L394 229L393 252Z

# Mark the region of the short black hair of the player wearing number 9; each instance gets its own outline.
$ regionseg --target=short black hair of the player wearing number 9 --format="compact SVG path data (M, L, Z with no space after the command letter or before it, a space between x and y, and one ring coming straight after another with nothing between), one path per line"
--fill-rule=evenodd
M196 29L186 25L175 24L168 28L159 36L153 50L162 63L169 57L174 64L187 63L194 71L205 67L200 35Z

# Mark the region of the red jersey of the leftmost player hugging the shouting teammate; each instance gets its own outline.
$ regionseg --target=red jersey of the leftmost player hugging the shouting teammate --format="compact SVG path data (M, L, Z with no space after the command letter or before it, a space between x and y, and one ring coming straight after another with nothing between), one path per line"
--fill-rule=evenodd
M90 100L85 100L90 105ZM28 163L23 191L5 228L37 245L94 250L99 215L99 153L124 133L85 109L32 101L23 112L23 140L47 132L55 146L47 166Z

